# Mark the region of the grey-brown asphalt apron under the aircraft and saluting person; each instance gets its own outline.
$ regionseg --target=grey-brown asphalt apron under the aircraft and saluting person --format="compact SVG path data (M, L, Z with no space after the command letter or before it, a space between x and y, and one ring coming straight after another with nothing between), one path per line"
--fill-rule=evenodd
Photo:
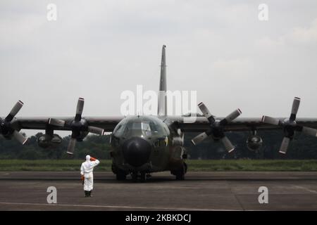
M175 181L168 172L146 183L116 181L94 173L85 198L79 172L0 172L0 210L317 210L317 172L189 172ZM49 186L57 203L46 201ZM259 203L259 187L268 204Z

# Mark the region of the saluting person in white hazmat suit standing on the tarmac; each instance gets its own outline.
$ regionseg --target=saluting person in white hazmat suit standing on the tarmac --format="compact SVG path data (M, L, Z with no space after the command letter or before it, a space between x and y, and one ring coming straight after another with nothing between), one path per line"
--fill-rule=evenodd
M99 165L99 160L86 155L86 162L82 162L80 167L81 179L84 184L85 197L92 197L92 189L94 188L94 167Z

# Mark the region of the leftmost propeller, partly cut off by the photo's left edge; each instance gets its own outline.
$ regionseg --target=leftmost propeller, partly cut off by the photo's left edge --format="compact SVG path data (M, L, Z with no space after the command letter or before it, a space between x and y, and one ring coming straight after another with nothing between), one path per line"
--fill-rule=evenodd
M27 137L23 136L23 134L20 134L14 127L13 127L13 118L15 115L18 114L20 109L23 106L22 101L18 101L15 103L13 108L11 109L11 112L6 116L4 120L0 118L0 133L6 137L10 138L13 136L14 139L16 139L18 142L22 143L23 145L27 141Z

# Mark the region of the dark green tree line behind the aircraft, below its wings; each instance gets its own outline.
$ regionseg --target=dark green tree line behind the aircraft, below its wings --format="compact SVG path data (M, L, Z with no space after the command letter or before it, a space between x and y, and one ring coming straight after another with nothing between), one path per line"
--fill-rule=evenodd
M66 149L70 136L63 137L58 146L41 148L37 145L38 133L30 136L24 146L15 140L8 141L0 137L0 159L85 159L90 154L101 159L110 159L111 145L110 135L88 135L84 141L77 142L74 155L68 155ZM185 148L190 159L317 159L317 139L311 136L297 134L290 143L286 155L278 153L282 142L282 131L258 131L263 139L263 146L257 151L247 148L247 137L250 132L228 132L227 136L236 146L232 153L226 153L222 144L207 139L193 146L191 139L196 133L185 134Z

